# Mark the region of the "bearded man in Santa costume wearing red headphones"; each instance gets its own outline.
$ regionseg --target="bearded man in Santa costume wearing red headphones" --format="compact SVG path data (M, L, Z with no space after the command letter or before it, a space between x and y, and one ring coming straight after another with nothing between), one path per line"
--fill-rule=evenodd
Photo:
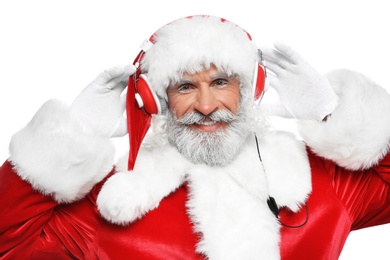
M259 102L265 81L279 103ZM175 20L12 137L0 256L337 259L350 231L390 222L388 111L360 73L260 51L225 19ZM295 118L304 141L264 114Z

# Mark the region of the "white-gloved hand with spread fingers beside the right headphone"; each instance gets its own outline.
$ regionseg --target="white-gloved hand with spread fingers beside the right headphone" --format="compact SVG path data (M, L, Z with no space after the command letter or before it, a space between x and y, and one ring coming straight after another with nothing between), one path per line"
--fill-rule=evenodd
M276 90L279 101L262 103L263 112L285 118L322 121L338 105L338 96L328 80L290 46L275 43L274 47L262 49L262 52L269 85Z

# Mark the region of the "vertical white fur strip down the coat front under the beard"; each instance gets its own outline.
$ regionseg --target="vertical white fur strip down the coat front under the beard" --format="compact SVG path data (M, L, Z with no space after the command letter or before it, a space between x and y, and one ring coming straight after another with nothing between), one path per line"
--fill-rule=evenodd
M267 176L253 136L231 164L194 166L188 181L198 252L209 259L280 258L280 226L267 205Z

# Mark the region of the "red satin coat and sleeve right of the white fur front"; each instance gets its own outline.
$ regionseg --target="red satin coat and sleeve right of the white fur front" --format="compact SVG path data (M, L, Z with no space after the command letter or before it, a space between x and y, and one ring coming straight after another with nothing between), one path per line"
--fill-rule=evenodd
M390 155L365 171L308 155L312 193L298 213L280 211L281 259L338 259L352 230L390 223Z

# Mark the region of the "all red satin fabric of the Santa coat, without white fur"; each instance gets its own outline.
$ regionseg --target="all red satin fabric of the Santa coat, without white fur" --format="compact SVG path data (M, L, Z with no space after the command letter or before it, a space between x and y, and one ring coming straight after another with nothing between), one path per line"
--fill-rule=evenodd
M284 224L296 226L282 228L282 259L337 259L351 230L390 222L390 155L366 172L346 171L312 154L310 163L313 190L307 208L280 212ZM101 184L77 203L58 205L32 191L9 162L1 173L4 259L203 259L195 253L199 238L186 215L186 186L123 227L100 217Z

